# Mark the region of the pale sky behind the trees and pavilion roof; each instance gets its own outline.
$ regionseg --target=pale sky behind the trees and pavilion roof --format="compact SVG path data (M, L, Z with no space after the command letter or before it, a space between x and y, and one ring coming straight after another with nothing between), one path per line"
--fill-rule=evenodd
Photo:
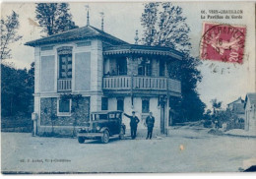
M245 97L246 92L255 91L255 7L251 3L173 3L183 9L183 16L191 31L192 50L191 55L199 56L200 39L202 36L202 24L204 21L224 23L230 25L245 26L247 28L245 40L245 55L243 64L202 61L198 67L203 76L198 84L200 98L208 108L211 107L211 99L217 98L225 104ZM104 13L104 30L120 39L134 43L135 31L139 31L139 37L143 33L140 18L144 10L143 3L70 3L70 11L73 21L79 27L86 26L87 16L85 5L90 6L90 25L100 29L100 12ZM10 45L12 59L17 68L30 68L33 61L33 48L24 43L43 35L34 23L35 5L33 3L4 3L1 6L1 17L10 15L12 10L20 15L19 34L22 40ZM207 19L201 20L201 10L243 10L242 19Z

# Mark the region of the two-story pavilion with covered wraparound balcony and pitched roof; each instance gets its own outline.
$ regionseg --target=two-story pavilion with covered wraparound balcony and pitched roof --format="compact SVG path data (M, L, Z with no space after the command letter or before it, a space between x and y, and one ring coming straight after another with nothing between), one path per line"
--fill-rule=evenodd
M167 47L130 44L92 26L68 30L27 42L34 47L34 131L72 135L89 120L91 111L134 110L146 129L150 111L155 134L171 125L169 96L181 96L180 82L168 77L167 65L182 53ZM79 109L63 93L81 94ZM74 115L80 116L74 123ZM52 119L54 117L54 120ZM127 128L129 119L123 117Z

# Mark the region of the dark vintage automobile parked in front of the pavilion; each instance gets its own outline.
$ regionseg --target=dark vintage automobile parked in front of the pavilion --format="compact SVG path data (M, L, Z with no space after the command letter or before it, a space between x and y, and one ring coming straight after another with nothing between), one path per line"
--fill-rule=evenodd
M79 129L78 142L84 143L87 139L100 140L106 144L109 137L119 136L123 139L125 135L125 125L122 123L122 111L97 111L92 112L90 121L85 127Z

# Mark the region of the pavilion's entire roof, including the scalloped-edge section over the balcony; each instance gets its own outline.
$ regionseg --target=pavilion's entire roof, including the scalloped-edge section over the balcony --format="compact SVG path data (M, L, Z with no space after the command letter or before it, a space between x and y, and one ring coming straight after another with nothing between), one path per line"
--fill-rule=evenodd
M177 59L182 59L183 56L183 53L169 47L130 44L109 33L106 33L102 30L98 30L92 26L86 26L74 30L67 30L57 34L52 34L46 37L29 41L25 43L25 45L38 46L57 42L66 42L90 38L100 38L105 42L105 45L103 45L104 55L140 53L153 55L167 55Z

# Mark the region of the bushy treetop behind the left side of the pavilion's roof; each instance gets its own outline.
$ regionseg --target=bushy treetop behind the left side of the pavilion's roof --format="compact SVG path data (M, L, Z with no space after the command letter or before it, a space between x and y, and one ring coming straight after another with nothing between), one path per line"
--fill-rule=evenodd
M36 3L35 19L47 35L78 28L72 21L68 3Z

